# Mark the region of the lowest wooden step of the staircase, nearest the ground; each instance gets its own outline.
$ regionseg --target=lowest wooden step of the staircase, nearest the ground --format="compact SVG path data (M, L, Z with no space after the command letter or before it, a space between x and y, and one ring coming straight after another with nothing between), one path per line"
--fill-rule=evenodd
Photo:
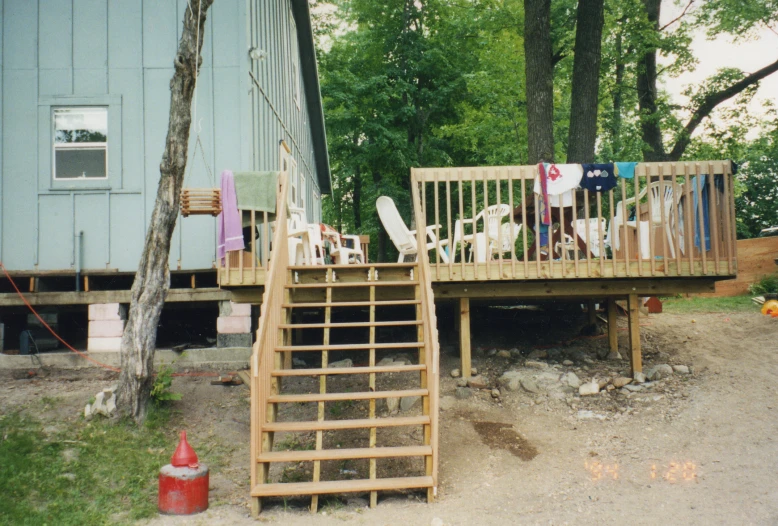
M431 488L432 477L397 477L387 479L329 480L326 482L288 482L257 484L252 497L289 497L292 495L320 495L324 493L360 493L410 488Z

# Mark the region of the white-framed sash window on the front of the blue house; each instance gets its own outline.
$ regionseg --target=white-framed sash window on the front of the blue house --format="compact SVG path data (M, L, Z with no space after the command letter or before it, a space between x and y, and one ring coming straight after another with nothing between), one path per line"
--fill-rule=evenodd
M108 107L54 107L52 173L55 181L108 178Z

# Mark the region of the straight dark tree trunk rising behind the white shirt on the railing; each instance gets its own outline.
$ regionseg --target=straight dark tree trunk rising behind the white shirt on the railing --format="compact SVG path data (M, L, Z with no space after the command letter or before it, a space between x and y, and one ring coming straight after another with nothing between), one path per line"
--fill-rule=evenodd
M554 67L551 0L524 1L529 164L554 160Z

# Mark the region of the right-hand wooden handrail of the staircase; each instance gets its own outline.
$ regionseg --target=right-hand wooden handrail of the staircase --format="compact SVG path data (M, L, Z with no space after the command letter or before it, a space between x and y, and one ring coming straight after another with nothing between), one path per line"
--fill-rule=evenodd
M414 169L411 169L411 195L413 199L413 214L416 220L416 237L419 247L426 246L427 218L421 203L419 185L423 181L417 181ZM429 392L429 417L430 417L430 445L432 446L432 492L437 496L438 492L438 413L439 413L439 364L440 342L438 340L438 322L435 315L435 296L432 292L432 279L429 254L421 248L417 251L418 280L422 315L426 323L424 327L424 357L427 366L427 390Z

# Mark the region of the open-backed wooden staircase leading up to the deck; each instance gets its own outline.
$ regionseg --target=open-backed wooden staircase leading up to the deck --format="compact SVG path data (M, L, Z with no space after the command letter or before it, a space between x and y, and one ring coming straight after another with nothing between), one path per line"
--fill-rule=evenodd
M375 506L379 491L426 489L431 501L439 349L429 269L288 267L278 252L252 357L253 512L265 497L311 495L314 512L325 494L365 493Z

